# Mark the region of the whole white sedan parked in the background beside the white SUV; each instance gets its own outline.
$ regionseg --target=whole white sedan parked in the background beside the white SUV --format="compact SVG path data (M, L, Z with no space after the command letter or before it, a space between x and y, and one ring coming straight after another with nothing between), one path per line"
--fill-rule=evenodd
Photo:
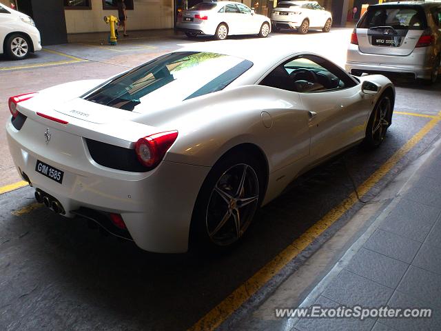
M176 30L187 37L207 34L216 39L226 39L233 34L258 34L267 37L271 32L268 17L256 14L243 3L232 1L201 2L179 12Z

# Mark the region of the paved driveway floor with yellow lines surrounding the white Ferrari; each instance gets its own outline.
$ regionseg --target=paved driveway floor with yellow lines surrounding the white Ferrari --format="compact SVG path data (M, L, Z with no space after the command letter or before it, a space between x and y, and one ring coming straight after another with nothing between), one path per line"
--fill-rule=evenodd
M109 77L187 43L216 43L220 49L248 43L256 52L313 50L343 65L350 34L351 29L334 29L325 39L319 32L291 32L190 41L167 30L130 32L118 46L107 46L105 34L74 36L72 43L50 46L25 61L0 58L0 123L9 117L10 95ZM440 137L441 83L395 83L393 125L380 149L353 148L305 174L258 212L236 250L212 257L143 252L88 229L85 220L41 208L32 188L21 187L1 130L0 329L241 330L241 323L252 325L257 317L261 330L276 330L267 317L274 309L268 302L286 302L280 304L285 307L305 301L387 210L400 183L422 171L416 164ZM287 286L293 279L297 288Z

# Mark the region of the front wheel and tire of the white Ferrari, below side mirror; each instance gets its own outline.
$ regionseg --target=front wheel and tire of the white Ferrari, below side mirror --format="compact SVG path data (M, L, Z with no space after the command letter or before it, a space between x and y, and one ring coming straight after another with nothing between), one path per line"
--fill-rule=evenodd
M391 125L392 102L389 95L382 95L378 99L375 108L369 117L366 127L366 136L362 145L368 149L378 148L384 137L387 128Z

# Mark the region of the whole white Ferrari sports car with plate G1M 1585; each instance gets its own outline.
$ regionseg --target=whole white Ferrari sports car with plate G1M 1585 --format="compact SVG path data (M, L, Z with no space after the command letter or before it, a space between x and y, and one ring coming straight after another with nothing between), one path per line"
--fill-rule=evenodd
M245 53L181 50L11 97L19 174L54 212L144 250L234 245L300 174L379 146L395 100L386 77L353 77L317 54Z

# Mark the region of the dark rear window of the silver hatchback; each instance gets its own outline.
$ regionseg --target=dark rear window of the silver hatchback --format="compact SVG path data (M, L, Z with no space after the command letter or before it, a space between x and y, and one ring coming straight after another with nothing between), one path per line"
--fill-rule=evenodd
M369 29L379 26L391 26L395 30L424 30L427 24L422 9L378 6L368 8L357 28Z

